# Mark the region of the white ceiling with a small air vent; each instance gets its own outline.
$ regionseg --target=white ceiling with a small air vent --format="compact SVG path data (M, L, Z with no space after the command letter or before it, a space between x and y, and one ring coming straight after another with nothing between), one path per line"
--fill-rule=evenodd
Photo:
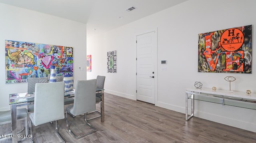
M0 0L87 24L87 32L108 31L187 0ZM137 9L127 12L131 6ZM120 19L119 17L123 17ZM94 30L96 29L96 30Z

